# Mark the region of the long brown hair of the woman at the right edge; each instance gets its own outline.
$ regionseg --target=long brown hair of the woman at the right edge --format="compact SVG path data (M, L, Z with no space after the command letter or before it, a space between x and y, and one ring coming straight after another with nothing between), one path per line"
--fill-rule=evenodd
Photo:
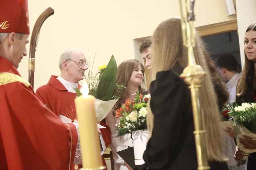
M247 33L248 31L250 30L253 30L253 31L256 31L256 23L254 24L251 24L245 33ZM246 77L249 75L249 74L253 74L254 75L254 71L255 71L255 68L254 68L254 63L253 61L249 60L245 54L245 51L244 51L244 68L242 70L242 75L241 75L241 78L240 80L238 81L237 83L237 90L236 90L236 96L240 97L240 96L243 96L246 94L247 90L248 90L248 86L246 84ZM254 89L256 88L256 78L254 76L253 78L253 85L254 85Z

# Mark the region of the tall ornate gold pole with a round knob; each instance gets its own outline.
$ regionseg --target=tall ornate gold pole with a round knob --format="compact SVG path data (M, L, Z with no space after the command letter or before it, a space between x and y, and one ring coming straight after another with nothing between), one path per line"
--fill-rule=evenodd
M194 1L195 0L180 0L183 45L188 49L188 66L183 70L180 77L189 85L191 92L198 163L197 169L209 170L210 167L208 166L205 145L205 130L203 128L199 103L199 87L201 87L200 84L203 80L204 71L201 66L196 65L193 53L193 47L195 46Z

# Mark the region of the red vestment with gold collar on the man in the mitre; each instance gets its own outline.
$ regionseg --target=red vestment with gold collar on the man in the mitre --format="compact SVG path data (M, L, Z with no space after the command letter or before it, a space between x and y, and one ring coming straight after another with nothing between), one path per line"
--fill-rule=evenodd
M0 57L0 169L68 170L77 139L76 127L47 109Z

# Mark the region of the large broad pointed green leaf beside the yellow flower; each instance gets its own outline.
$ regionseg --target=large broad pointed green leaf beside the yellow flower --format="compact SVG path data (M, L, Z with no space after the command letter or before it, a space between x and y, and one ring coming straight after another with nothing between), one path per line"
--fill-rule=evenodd
M107 67L105 68L96 91L97 99L111 100L116 85L117 66L114 56L112 55Z

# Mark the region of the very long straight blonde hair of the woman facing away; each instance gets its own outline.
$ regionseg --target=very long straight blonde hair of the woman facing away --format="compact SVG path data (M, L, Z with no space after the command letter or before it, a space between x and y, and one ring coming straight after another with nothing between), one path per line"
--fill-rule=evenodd
M220 116L217 98L207 64L204 58L204 45L196 36L196 46L193 48L195 61L206 73L199 89L200 107L203 125L206 130L206 147L208 160L225 161L223 153L223 135L219 125ZM170 70L176 63L183 68L188 64L187 49L183 47L181 23L179 18L168 19L157 27L153 35L152 43L152 78L155 80L159 71ZM152 114L152 112L149 112ZM152 129L153 116L149 116L148 122Z

